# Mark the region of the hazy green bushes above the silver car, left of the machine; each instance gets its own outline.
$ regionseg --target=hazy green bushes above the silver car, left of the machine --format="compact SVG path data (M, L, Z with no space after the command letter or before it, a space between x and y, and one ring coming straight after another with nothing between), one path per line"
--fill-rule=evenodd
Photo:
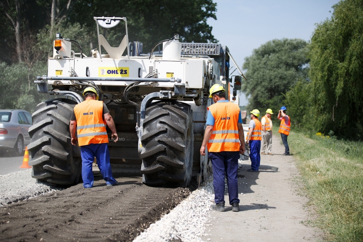
M25 109L32 113L38 103L49 99L49 95L39 94L34 84L35 77L46 73L46 68L41 62L31 70L24 63L0 63L0 109Z

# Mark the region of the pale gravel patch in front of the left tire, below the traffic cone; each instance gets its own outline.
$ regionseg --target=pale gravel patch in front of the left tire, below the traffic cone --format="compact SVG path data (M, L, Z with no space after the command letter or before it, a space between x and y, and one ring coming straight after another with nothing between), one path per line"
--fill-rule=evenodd
M39 195L62 190L43 183L37 183L31 177L31 169L0 175L0 206L35 198Z

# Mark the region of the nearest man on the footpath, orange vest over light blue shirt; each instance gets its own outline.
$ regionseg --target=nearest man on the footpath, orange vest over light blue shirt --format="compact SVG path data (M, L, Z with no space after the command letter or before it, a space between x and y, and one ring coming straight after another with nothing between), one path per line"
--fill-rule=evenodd
M214 104L208 107L207 128L204 133L201 155L206 155L213 166L213 187L215 205L212 209L225 211L224 177L228 181L229 204L232 211L239 211L238 199L238 158L245 152L245 136L242 127L242 118L238 105L225 99L225 90L222 85L215 84L210 88L209 94Z

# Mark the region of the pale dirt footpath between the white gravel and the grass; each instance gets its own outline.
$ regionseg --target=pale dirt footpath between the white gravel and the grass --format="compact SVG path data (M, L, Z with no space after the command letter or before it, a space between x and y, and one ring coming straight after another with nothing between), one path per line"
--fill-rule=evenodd
M323 233L304 222L308 199L298 195L298 171L293 156L282 156L280 136L273 136L274 155L261 155L260 172L248 172L245 161L238 172L239 212L211 211L205 241L321 241ZM243 193L243 195L241 194Z

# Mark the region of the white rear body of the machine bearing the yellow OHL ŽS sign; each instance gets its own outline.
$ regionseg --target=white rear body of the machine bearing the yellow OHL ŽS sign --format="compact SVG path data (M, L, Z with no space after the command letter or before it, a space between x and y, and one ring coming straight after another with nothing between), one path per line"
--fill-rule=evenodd
M63 45L62 45L63 47ZM172 46L175 47L175 46ZM61 54L61 51L59 51ZM168 58L173 60L165 60L162 57L153 57L151 59L139 56L130 56L130 59L120 58L112 59L103 57L74 57L74 58L49 58L48 60L48 76L55 77L126 77L126 78L143 78L149 72L157 70L158 78L179 78L181 83L186 84L186 88L201 89L205 85L208 75L207 67L212 65L218 66L214 58L197 58L179 56L176 60L175 54L167 54ZM216 83L220 83L219 68L213 69L213 74L217 77ZM59 81L48 81L48 85L59 83ZM127 86L131 82L123 81L95 81L96 85L107 86ZM62 81L62 85L72 85L71 81ZM158 87L173 87L174 83L157 83Z

